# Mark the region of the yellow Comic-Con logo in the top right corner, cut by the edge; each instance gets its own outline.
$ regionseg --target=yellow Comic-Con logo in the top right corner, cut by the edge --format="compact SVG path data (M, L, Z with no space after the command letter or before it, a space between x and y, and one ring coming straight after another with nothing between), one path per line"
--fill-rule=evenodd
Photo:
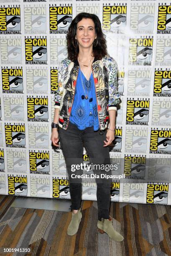
M158 6L157 33L158 34L171 33L171 5Z

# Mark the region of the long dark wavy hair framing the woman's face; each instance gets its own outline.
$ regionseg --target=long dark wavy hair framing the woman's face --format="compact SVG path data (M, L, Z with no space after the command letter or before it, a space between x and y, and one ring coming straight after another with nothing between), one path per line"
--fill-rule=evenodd
M77 45L77 41L75 40L75 35L77 33L77 23L82 20L82 18L90 18L94 22L94 27L95 27L95 32L97 35L97 46L93 46L93 54L94 58L100 60L102 57L107 55L107 46L106 46L106 36L102 32L102 27L101 27L101 22L100 19L97 17L95 14L91 13L79 13L74 20L72 20L69 29L68 29L68 34L66 35L66 42L67 42L67 50L68 50L68 58L71 61L74 61L77 59L78 54L79 54L79 46ZM75 48L73 46L74 41L74 46L77 45ZM96 44L96 41L95 41Z

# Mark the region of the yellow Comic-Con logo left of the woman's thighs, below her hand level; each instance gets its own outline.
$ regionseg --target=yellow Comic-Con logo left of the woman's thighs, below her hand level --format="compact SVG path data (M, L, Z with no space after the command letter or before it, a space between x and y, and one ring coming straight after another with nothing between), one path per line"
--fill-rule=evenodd
M49 174L49 152L29 152L31 174Z

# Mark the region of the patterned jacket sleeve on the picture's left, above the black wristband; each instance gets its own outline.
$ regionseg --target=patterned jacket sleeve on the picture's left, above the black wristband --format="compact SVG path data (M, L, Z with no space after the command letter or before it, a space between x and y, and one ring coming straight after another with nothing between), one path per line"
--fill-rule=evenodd
M58 67L58 89L55 91L54 94L54 108L60 108L60 102L61 102L61 97L63 94L63 72L64 72L64 60L61 61Z

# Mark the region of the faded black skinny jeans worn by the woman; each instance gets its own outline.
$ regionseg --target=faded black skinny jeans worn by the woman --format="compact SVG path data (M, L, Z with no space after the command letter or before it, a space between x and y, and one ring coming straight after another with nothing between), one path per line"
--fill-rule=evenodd
M71 195L72 209L80 208L82 199L82 180L79 182L72 179L71 164L82 163L83 146L85 147L89 159L92 164L110 164L109 147L103 147L106 140L106 132L100 135L99 131L95 131L93 127L88 127L80 131L76 125L69 122L67 130L59 128L59 140L64 154L66 169L69 175L69 189ZM76 160L77 159L77 160ZM100 174L100 169L93 170L94 174ZM101 171L102 173L110 174L111 172ZM82 174L80 171L75 174ZM100 176L101 177L101 176ZM72 182L73 181L73 182ZM99 182L98 182L99 181ZM98 219L109 219L110 208L110 186L112 179L96 179L97 183L97 205Z

